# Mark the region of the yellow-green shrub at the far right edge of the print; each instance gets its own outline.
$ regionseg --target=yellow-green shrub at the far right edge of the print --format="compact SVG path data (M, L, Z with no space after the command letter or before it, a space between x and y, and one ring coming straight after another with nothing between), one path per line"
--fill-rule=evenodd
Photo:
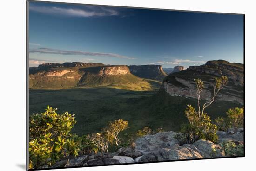
M227 112L229 125L234 128L234 133L239 127L243 127L244 113L243 108L231 108Z

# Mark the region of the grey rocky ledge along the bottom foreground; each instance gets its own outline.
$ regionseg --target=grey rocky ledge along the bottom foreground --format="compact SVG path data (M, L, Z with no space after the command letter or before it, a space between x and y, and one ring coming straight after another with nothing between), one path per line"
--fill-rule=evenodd
M124 163L141 163L155 161L171 161L196 158L218 158L226 157L220 144L214 144L207 140L198 140L194 144L179 145L174 138L176 134L173 131L156 133L155 135L146 135L135 141L135 146L120 148L115 153L107 153L104 156L94 154L84 155L73 159L63 159L56 162L51 167L73 167L73 166L91 166L91 165L113 165ZM238 129L237 133L217 132L219 142L233 141L236 144L243 144L243 128ZM40 168L48 168L44 165Z

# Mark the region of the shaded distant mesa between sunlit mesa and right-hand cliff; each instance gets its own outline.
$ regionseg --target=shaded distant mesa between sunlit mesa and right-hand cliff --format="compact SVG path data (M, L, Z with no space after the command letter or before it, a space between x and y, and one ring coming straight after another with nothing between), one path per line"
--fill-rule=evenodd
M135 76L162 81L167 74L161 65L130 65L130 72Z

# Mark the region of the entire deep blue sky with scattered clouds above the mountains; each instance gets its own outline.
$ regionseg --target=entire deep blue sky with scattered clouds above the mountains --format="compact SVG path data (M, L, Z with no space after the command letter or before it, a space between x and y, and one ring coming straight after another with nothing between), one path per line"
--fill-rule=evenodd
M29 3L29 66L243 63L243 15Z

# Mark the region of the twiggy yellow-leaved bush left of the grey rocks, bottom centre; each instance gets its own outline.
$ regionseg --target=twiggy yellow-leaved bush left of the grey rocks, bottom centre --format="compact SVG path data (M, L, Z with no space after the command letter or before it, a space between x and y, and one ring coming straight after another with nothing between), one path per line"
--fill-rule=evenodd
M90 140L97 146L98 152L101 152L101 156L103 156L105 152L108 152L109 145L120 145L121 140L118 134L126 128L128 128L128 121L122 119L115 120L114 122L109 122L108 126L103 128L101 133L92 134Z

